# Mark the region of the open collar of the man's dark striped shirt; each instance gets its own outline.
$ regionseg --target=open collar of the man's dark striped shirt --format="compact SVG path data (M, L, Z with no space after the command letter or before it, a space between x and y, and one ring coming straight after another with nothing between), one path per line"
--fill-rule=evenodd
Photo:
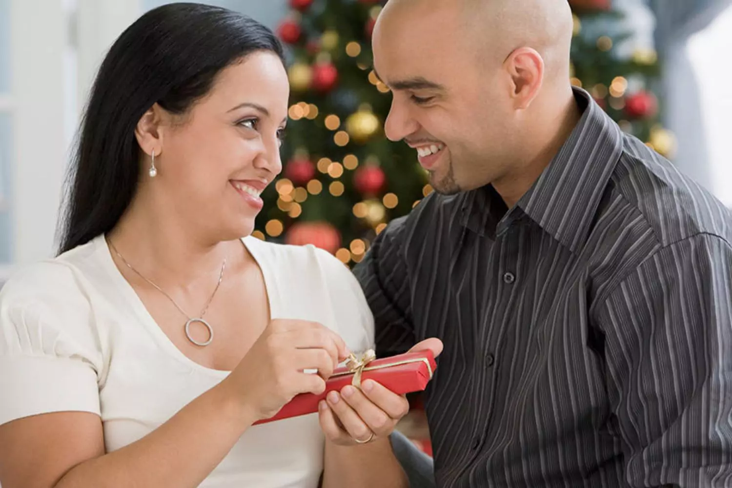
M580 121L516 207L498 220L503 200L490 185L466 192L463 225L480 235L500 234L523 211L572 252L584 243L622 153L623 134L587 91L575 87L574 94L584 108Z

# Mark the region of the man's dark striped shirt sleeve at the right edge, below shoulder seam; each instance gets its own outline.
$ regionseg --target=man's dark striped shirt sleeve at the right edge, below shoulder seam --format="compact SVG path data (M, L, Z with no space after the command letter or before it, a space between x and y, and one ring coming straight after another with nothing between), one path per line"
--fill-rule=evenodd
M699 235L661 249L598 320L629 486L731 486L730 244Z

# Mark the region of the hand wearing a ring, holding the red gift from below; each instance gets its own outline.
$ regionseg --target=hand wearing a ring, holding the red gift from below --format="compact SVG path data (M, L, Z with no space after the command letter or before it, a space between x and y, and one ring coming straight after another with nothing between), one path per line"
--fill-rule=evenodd
M437 357L442 352L441 340L425 339L409 352L427 349ZM361 388L347 385L340 394L331 391L327 402L321 401L321 428L331 442L348 446L386 438L408 413L409 403L404 395L397 395L374 380L364 380Z

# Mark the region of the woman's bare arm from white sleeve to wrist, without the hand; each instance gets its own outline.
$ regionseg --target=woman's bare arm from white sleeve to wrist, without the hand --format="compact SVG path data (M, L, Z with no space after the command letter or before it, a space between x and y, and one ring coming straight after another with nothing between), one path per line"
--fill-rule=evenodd
M105 454L93 413L45 413L0 426L3 488L197 487L256 420L225 383L135 443Z

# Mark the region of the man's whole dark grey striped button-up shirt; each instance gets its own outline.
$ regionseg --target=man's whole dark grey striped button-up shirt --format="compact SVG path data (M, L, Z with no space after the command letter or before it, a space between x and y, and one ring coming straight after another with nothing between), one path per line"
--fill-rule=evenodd
M444 341L440 487L732 487L732 214L575 98L514 208L432 194L378 236L378 353Z

